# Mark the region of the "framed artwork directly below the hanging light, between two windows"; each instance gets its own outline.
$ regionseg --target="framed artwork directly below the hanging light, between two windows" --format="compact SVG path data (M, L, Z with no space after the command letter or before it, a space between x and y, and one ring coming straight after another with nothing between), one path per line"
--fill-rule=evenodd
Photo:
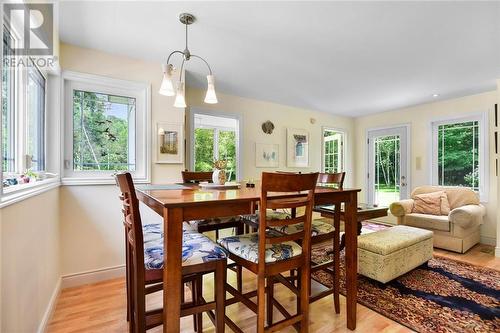
M184 162L184 125L158 122L156 124L156 163Z

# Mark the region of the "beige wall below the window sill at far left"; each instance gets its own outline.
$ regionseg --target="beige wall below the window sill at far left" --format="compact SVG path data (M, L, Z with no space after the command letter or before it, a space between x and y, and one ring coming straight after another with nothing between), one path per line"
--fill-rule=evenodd
M2 332L36 332L61 276L59 189L4 207L1 215Z

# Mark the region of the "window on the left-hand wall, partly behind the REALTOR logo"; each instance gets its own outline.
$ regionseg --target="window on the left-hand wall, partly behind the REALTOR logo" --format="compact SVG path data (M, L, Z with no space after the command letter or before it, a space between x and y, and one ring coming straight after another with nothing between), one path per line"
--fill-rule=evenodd
M21 193L46 179L46 78L31 58L13 65L17 39L3 29L2 193ZM39 183L38 183L39 184ZM18 197L20 194L18 195ZM2 202L10 199L2 198Z

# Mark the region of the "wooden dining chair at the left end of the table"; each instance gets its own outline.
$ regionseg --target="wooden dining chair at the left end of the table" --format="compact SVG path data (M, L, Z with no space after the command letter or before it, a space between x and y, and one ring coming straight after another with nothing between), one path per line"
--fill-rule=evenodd
M163 280L163 232L159 227L145 228L142 225L139 201L135 193L130 173L116 175L121 191L123 212L126 224L127 247L127 284L129 311L129 330L142 333L163 323L163 309L146 310L146 294L162 290ZM159 237L158 234L161 236ZM196 315L195 331L201 332L201 314L215 310L216 332L224 332L226 251L208 237L195 232L187 226L183 228L182 240L183 282L191 282L193 289L191 302L181 306L181 316ZM204 274L214 273L214 301L206 302L202 297ZM197 282L197 283L196 283ZM180 291L183 294L183 291ZM212 316L209 316L212 319Z

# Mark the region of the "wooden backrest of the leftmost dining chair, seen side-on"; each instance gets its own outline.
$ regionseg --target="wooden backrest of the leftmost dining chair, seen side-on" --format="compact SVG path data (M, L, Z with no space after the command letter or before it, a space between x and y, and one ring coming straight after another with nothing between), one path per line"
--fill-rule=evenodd
M125 230L127 231L127 242L131 250L134 276L139 285L144 281L144 236L142 234L142 222L139 211L139 200L135 193L134 182L129 172L116 175L116 182L120 188L120 199L123 204L123 215Z

